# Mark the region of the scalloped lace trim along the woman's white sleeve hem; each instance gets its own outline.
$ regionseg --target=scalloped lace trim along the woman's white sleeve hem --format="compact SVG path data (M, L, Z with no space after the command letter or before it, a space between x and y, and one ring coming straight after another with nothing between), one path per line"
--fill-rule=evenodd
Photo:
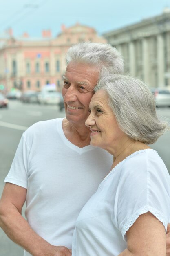
M128 229L134 224L134 222L137 220L137 218L143 214L143 213L147 213L148 211L150 211L150 213L152 213L160 222L162 222L163 226L165 227L165 230L167 231L167 222L165 220L165 217L163 216L163 214L150 207L150 206L145 206L142 207L141 209L139 209L135 214L133 214L127 222L124 223L122 229L121 229L121 234L123 236L124 241L127 241L126 238L126 231L128 231Z

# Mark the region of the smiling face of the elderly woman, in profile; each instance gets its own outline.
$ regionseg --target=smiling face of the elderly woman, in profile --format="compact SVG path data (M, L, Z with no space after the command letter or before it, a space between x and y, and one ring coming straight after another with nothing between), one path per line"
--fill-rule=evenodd
M104 90L99 90L93 95L89 112L85 124L91 129L91 145L110 151L110 147L119 142L125 134L117 124Z

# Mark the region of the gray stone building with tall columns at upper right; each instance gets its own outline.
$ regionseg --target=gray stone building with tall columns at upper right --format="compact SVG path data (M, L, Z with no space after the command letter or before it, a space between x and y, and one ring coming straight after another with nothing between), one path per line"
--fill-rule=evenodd
M103 34L124 57L125 73L150 87L170 85L170 10Z

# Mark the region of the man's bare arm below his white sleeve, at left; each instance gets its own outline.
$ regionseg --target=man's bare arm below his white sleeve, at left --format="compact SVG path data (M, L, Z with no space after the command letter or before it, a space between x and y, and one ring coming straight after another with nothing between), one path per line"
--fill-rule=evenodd
M38 236L22 217L26 191L21 186L6 183L0 200L0 227L13 242L33 256L71 256L71 250L53 246Z

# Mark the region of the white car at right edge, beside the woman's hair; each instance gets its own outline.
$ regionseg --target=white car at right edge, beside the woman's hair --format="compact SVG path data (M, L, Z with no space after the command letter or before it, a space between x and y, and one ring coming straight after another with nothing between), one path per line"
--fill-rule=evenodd
M170 90L166 88L151 88L155 96L156 106L169 106L170 107Z

